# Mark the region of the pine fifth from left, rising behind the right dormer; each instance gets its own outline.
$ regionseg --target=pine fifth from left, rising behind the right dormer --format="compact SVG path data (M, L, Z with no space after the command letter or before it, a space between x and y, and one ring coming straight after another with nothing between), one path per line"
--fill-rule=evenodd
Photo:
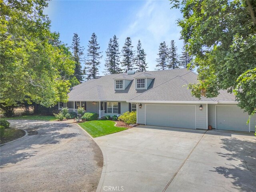
M136 71L146 71L146 68L148 68L146 63L146 53L144 52L144 49L141 48L140 40L138 40L137 45L137 54L134 59L135 65L136 65Z

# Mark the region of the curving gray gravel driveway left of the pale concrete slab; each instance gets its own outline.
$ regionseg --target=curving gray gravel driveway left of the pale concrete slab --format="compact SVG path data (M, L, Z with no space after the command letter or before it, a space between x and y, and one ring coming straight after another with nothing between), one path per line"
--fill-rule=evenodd
M28 136L0 147L1 191L95 191L103 166L98 145L76 124L10 120Z

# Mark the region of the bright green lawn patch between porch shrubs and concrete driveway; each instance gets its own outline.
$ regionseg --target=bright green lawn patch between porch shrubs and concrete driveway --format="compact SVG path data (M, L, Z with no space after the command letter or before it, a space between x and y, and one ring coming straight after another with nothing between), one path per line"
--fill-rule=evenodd
M79 125L86 130L92 137L99 137L116 132L126 130L127 128L116 127L116 123L110 120L94 120L79 123Z

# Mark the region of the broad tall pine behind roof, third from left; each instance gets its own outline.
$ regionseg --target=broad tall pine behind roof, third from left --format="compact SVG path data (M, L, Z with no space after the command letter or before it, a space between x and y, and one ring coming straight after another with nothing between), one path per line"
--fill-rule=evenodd
M108 42L108 48L106 50L106 63L105 70L106 74L117 74L121 72L120 69L120 52L118 38L114 35Z

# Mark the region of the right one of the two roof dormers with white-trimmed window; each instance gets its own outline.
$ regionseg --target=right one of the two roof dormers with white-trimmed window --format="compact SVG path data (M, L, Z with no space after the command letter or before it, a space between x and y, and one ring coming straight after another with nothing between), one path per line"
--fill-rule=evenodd
M149 73L141 73L134 77L135 79L135 89L148 89L151 82L154 80L154 76Z

